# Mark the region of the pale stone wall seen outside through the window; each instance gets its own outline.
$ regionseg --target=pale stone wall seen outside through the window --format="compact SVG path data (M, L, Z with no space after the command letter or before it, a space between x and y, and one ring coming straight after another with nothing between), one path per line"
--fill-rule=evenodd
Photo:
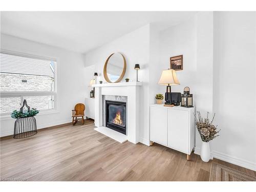
M25 75L0 73L0 91L52 91L54 82L49 76ZM27 80L27 82L22 82ZM53 96L27 96L27 103L30 108L37 110L53 109ZM20 97L1 98L0 113L11 113L13 110L19 110Z

